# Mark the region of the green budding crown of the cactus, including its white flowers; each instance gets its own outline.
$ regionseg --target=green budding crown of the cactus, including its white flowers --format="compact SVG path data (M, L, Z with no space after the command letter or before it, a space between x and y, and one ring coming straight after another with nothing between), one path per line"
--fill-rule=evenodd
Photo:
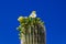
M40 18L36 18L35 11L33 11L30 16L20 16L18 19L18 21L20 22L20 25L16 28L18 31L20 31L20 33L19 33L20 38L22 37L22 35L32 33L31 30L34 28L36 29L37 25L41 26L40 30L44 29L44 26L43 26L44 22ZM35 32L37 33L36 30L35 30Z

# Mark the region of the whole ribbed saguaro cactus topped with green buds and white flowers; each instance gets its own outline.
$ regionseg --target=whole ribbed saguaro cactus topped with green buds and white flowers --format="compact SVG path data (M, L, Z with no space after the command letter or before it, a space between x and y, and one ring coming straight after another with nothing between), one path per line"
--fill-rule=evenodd
M35 11L30 16L20 16L18 21L21 44L45 44L44 22L36 18Z

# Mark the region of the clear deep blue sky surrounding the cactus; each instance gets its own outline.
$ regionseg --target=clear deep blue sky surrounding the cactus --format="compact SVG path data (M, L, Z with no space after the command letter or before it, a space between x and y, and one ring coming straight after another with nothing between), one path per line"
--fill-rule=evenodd
M18 18L36 11L46 26L46 44L66 44L65 0L0 0L0 44L20 44Z

